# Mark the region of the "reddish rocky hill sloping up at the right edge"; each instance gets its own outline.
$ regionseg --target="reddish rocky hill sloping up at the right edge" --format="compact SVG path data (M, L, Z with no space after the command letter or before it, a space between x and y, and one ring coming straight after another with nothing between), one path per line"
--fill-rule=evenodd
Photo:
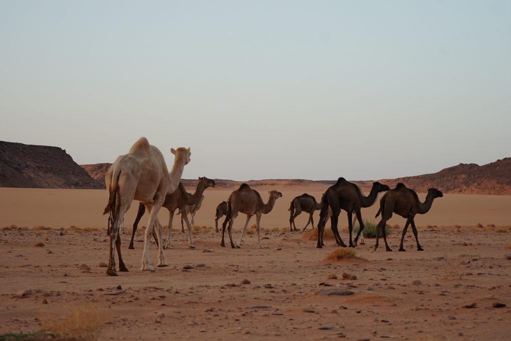
M487 165L459 164L437 173L380 180L390 188L403 183L416 192L434 187L444 193L511 195L511 157Z

